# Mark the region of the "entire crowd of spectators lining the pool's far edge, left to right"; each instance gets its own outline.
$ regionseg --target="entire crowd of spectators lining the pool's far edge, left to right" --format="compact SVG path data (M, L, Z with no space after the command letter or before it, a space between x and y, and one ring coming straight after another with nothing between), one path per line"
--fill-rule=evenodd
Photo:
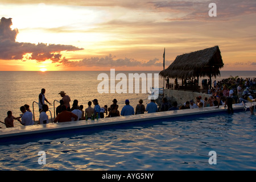
M228 112L233 113L232 104L238 104L241 102L253 102L255 101L254 91L255 90L255 78L228 78L221 81L214 81L213 87L209 90L208 94L212 96L202 98L201 96L196 97L195 101L192 99L186 101L184 104L178 105L176 101L173 103L168 103L167 98L164 97L162 104L158 107L155 100L151 100L149 104L145 107L143 105L143 100L139 100L138 105L135 107L130 105L129 100L125 100L125 106L119 111L117 99L114 99L113 104L108 107L100 107L98 100L88 102L88 107L84 109L83 105L79 105L78 100L74 100L72 107L70 105L71 98L64 92L61 91L59 94L62 97L60 100L60 105L56 107L56 118L54 122L69 122L69 121L79 121L79 120L94 120L104 117L119 117L120 115L134 115L143 113L155 113L158 111L168 111L168 110L181 110L181 109L195 109L199 107L210 107L225 105L228 106ZM47 115L48 105L51 105L47 100L46 89L42 89L39 94L39 124L49 123L49 118ZM94 107L92 107L92 104ZM254 108L250 108L251 114ZM24 105L20 107L19 117L14 117L12 111L7 111L7 117L5 118L6 127L14 127L14 120L20 122L20 124L34 125L33 115L30 110L29 105Z

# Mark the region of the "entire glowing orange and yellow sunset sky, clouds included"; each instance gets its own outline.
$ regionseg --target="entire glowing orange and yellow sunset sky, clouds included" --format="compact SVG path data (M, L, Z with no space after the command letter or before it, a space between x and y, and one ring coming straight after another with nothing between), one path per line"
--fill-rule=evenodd
M256 69L255 0L0 0L0 10L0 71L160 71L164 48L167 68L213 46L221 70Z

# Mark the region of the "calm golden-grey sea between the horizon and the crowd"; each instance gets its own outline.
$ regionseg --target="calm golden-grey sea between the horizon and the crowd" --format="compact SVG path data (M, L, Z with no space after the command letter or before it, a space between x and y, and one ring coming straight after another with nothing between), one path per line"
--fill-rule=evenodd
M138 104L139 99L143 99L143 104L147 104L147 93L98 93L98 84L102 82L102 80L97 79L100 73L106 73L110 77L110 71L0 72L0 121L4 121L8 110L13 111L13 115L18 117L20 115L19 107L24 104L30 105L32 110L32 103L34 101L38 102L38 95L42 88L46 89L45 96L52 104L52 106L49 106L52 117L54 114L53 101L61 99L60 91L64 91L71 97L71 105L73 100L76 99L79 101L79 105L84 105L84 109L88 106L88 101L92 101L94 98L98 99L100 106L110 106L112 100L117 98L120 109L125 105L126 99L129 99L130 104L134 107ZM127 78L129 73L146 73L146 75L152 73L152 85L154 85L154 73L159 73L159 71L115 72L115 74L118 73L125 73ZM256 71L221 71L221 76L217 77L216 80L230 76L253 78L256 77ZM119 80L115 82L118 83ZM163 78L159 77L159 87L162 87L162 85ZM59 103L55 102L55 107L57 105ZM34 109L35 119L38 120L38 105L34 104ZM0 123L0 126L5 127L2 123ZM15 122L15 126L20 126L20 123Z

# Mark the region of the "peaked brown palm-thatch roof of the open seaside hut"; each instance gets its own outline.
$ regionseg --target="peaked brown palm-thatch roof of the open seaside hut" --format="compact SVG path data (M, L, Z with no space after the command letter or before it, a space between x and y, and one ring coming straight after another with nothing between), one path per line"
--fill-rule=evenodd
M220 68L224 67L218 46L185 53L177 56L174 62L159 73L160 76L170 78L216 77L220 75Z

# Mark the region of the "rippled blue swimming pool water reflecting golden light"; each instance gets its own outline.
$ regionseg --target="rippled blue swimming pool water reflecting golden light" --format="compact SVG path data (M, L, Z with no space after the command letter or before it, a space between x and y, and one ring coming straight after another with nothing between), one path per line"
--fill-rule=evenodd
M255 170L255 143L249 111L197 115L1 142L0 170Z

